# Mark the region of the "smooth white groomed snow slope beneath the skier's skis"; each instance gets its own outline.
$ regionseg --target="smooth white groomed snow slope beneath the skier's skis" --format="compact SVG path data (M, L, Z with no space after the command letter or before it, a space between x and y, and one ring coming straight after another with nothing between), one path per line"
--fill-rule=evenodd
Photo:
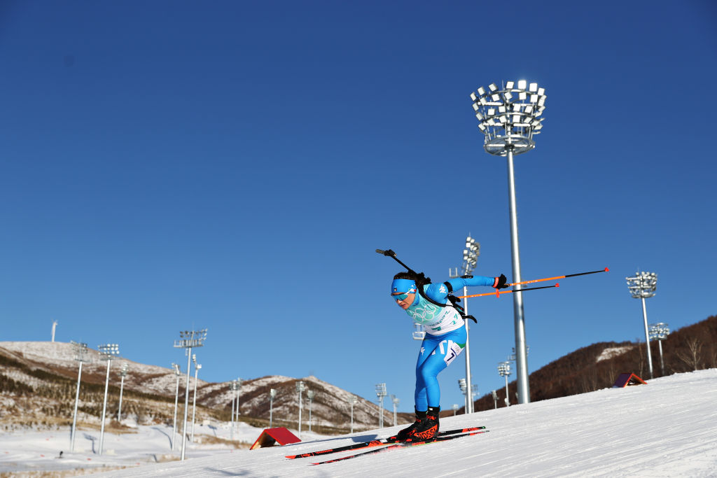
M657 378L470 416L442 429L489 433L310 466L296 454L387 436L397 427L282 447L236 451L103 477L715 477L717 369ZM341 456L341 455L339 455Z

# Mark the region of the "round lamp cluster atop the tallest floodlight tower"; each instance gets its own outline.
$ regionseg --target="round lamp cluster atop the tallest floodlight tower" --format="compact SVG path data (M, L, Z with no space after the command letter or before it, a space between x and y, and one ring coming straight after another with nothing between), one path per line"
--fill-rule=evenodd
M543 128L545 88L526 80L505 82L502 88L491 83L472 92L470 99L488 153L505 156L508 148L514 154L535 148L533 135Z

